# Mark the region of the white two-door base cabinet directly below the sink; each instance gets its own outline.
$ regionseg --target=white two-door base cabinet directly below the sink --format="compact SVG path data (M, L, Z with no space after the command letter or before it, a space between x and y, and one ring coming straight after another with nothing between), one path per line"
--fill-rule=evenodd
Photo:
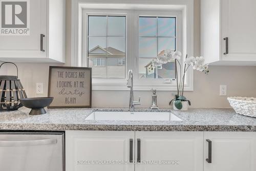
M202 146L203 132L67 131L66 170L202 171Z

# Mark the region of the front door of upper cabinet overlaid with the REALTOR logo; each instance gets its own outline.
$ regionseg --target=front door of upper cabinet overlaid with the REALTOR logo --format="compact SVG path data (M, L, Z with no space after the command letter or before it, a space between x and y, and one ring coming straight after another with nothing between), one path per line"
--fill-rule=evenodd
M24 0L25 1L25 0ZM22 1L23 2L23 1ZM3 2L2 6L4 6ZM19 2L12 2L19 3ZM0 35L0 56L6 57L46 57L47 46L47 0L31 0L27 1L26 6L19 6L16 4L5 5L6 17L12 16L14 19L6 19L7 24L11 24L9 28L15 33L19 28L17 24L24 24L26 21L29 29L29 34L1 34ZM14 9L14 10L11 10ZM20 11L22 16L19 16ZM3 15L3 13L2 13ZM3 18L3 17L2 17ZM23 21L25 20L25 21ZM2 25L4 21L2 20ZM17 25L17 26L16 26ZM9 27L9 26L8 26ZM16 28L15 28L16 27ZM23 26L22 26L23 27ZM5 29L2 26L1 31ZM24 28L20 29L24 31ZM22 32L20 32L22 33ZM45 52L40 51L40 34L44 34L42 41L42 48Z

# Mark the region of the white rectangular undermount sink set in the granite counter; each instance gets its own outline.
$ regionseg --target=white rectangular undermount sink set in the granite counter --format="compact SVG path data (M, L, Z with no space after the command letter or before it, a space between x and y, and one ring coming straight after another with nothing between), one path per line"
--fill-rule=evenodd
M170 112L93 112L86 120L182 121Z

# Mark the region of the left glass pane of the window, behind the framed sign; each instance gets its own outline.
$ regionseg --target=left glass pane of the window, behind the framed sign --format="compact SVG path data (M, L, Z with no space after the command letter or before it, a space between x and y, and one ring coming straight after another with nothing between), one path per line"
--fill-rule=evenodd
M88 15L88 66L93 78L125 78L125 22L125 16Z

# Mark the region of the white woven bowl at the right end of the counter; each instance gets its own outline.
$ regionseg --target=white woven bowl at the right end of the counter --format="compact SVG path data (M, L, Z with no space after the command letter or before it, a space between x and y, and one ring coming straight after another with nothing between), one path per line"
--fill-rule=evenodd
M256 98L228 97L227 100L236 113L256 118Z

